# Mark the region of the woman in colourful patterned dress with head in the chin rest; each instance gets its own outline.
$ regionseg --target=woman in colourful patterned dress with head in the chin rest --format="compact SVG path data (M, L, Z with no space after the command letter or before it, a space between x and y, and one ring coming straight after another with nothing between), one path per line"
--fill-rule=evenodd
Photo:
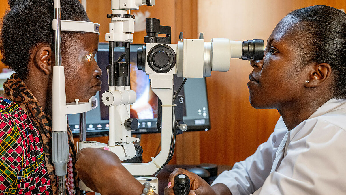
M1 61L14 70L0 97L0 195L57 194L52 164L52 66L55 65L51 0L9 0L1 26ZM61 0L61 19L88 21L78 0ZM93 57L95 33L62 32L66 101L87 102L101 90ZM80 194L68 125L70 163L66 194Z

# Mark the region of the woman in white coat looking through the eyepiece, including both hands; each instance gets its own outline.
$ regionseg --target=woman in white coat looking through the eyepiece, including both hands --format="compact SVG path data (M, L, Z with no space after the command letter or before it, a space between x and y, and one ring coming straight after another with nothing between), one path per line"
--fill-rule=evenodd
M179 173L190 177L189 195L345 194L346 14L328 6L290 12L268 38L263 60L250 65L250 103L280 112L274 132L212 186L175 169L165 194L173 194ZM83 149L77 159L80 178L102 195L129 194L128 187L142 193L115 154Z

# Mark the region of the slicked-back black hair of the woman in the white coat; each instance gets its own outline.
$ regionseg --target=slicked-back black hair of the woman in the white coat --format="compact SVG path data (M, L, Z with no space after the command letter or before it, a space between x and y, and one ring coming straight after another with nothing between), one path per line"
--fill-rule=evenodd
M302 63L328 63L334 81L334 97L346 98L346 14L329 6L310 6L294 10L304 28Z

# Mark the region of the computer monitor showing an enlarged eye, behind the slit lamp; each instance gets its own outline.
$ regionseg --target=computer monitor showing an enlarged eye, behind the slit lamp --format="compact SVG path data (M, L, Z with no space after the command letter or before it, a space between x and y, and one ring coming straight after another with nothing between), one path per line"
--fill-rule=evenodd
M132 134L157 133L157 96L150 87L149 75L137 69L137 49L140 44L131 44L130 49L130 87L137 94L137 100L130 105L130 117L138 119L138 129ZM115 48L115 56L118 58L124 48ZM102 101L102 93L108 90L108 76L106 67L109 64L108 43L99 43L99 50L95 56L102 70L102 90L95 96L98 99L98 107L86 113L86 135L107 136L108 135L108 107ZM183 78L174 77L174 90L180 87ZM204 78L188 78L179 95L184 96L183 120L188 125L187 131L209 130L209 109L207 100L206 81ZM79 114L67 116L73 135L79 134Z

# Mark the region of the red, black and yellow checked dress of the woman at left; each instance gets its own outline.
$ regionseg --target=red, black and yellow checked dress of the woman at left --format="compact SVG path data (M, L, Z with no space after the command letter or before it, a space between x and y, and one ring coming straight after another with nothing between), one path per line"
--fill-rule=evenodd
M40 134L27 113L0 98L0 195L52 194Z

